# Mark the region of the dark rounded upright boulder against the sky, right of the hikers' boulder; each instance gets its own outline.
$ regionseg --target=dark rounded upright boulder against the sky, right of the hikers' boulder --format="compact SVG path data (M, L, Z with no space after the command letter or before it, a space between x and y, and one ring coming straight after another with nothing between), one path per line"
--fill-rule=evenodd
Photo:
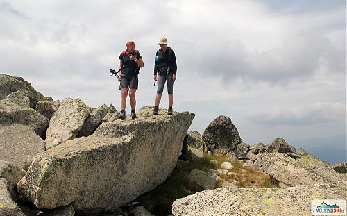
M226 154L242 142L231 119L220 115L203 132L203 141L211 153Z

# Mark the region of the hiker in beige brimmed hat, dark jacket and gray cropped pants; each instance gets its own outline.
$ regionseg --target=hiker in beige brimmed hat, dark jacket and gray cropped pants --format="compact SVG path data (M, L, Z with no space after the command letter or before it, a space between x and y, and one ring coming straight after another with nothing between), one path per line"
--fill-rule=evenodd
M176 81L176 56L174 50L167 47L167 39L160 38L158 45L160 49L155 55L154 76L153 79L158 81L157 95L155 96L155 107L153 115L159 113L159 103L162 99L162 91L165 82L167 82L167 93L169 94L169 108L167 115L172 115L172 104L174 103L174 82Z

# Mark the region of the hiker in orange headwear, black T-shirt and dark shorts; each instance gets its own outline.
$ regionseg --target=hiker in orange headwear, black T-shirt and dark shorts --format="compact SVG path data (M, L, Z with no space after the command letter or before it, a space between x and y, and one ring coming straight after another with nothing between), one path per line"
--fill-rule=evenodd
M126 51L121 52L119 61L119 69L121 69L119 72L121 77L121 83L119 85L119 90L121 90L121 115L119 115L119 119L126 119L126 97L128 96L128 89L130 89L131 118L135 119L135 94L139 85L138 74L139 69L144 67L144 62L139 51L135 50L135 42L133 40L126 42Z

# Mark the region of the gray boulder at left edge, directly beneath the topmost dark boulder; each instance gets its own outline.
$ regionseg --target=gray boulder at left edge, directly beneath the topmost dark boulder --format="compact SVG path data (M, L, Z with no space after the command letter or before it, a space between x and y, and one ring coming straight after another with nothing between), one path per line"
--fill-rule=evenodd
M44 136L49 120L31 108L24 108L24 104L15 104L7 99L0 101L0 125L23 124L35 133Z

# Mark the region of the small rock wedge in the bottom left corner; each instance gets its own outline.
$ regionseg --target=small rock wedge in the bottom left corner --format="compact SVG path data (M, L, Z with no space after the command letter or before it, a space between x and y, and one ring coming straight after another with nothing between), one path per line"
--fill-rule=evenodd
M0 178L0 215L26 216L15 201L12 200L8 191L8 182L4 178Z

